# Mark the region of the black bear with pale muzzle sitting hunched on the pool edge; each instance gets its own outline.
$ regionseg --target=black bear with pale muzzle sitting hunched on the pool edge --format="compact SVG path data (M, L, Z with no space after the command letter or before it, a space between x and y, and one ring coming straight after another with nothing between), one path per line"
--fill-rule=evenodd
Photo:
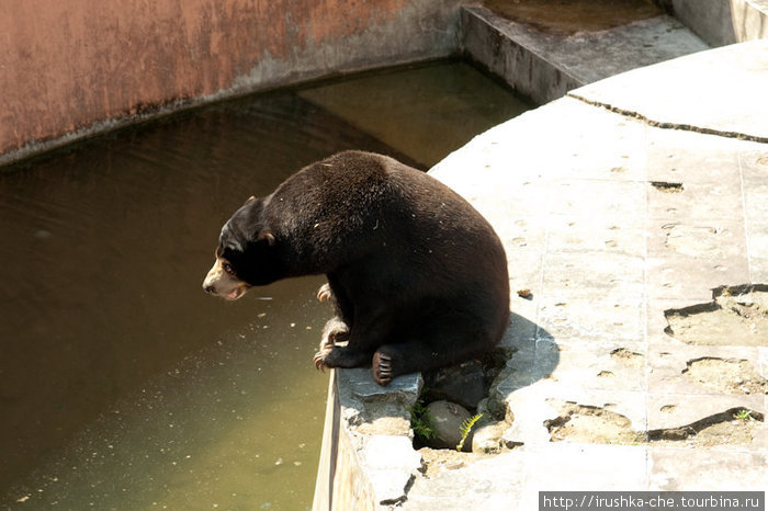
M509 321L507 258L451 189L392 158L345 151L250 197L222 228L207 293L325 273L336 316L314 357L381 385L490 350ZM346 342L346 345L343 343Z

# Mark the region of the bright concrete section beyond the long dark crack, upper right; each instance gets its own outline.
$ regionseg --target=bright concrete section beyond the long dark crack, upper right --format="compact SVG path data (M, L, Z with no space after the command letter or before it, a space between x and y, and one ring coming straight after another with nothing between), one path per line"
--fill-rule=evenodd
M656 126L768 141L768 102L758 100L768 91L766 69L761 39L626 72L572 96Z

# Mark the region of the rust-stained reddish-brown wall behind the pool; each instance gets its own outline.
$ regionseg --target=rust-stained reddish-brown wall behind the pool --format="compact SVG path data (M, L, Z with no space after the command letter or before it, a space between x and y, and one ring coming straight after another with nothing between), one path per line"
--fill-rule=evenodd
M434 58L461 0L2 0L0 164L147 115Z

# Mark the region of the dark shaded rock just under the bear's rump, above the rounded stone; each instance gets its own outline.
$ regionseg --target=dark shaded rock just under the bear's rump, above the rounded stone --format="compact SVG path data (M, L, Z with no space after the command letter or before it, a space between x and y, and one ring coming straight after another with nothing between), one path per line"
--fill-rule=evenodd
M483 365L478 361L425 373L423 379L426 397L430 401L447 400L475 409L488 394Z

